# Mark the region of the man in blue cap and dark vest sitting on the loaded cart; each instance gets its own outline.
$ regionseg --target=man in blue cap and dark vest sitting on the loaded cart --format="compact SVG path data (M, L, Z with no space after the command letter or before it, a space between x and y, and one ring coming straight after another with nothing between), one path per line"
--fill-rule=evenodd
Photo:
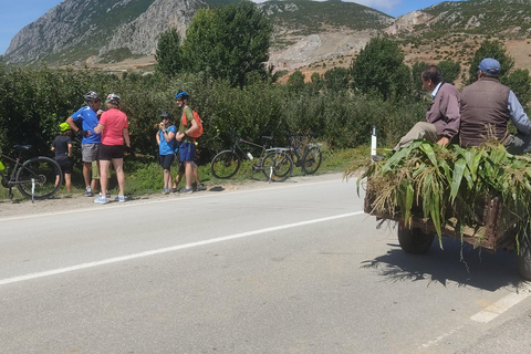
M478 146L489 139L501 142L510 154L531 152L531 122L514 93L499 82L500 63L487 58L478 66L478 81L461 92L460 145ZM509 135L507 124L517 127Z

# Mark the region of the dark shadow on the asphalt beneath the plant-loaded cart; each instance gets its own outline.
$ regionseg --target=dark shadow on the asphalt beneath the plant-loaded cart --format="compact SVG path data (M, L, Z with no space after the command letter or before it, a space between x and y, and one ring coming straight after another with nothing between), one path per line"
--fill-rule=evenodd
M489 253L446 237L442 238L444 249L440 249L436 237L425 254L406 253L398 242L388 246L391 250L387 254L362 262L362 268L375 269L391 281L428 280L445 287L448 281L454 281L460 287L488 291L508 285L518 289L524 284L518 274L516 252L499 250Z

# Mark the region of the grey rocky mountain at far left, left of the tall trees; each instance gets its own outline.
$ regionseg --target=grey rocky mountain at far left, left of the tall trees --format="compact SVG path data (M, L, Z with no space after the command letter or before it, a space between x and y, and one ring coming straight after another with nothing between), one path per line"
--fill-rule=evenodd
M205 6L201 0L65 0L17 33L4 59L70 64L148 55L162 31L173 25L184 35Z

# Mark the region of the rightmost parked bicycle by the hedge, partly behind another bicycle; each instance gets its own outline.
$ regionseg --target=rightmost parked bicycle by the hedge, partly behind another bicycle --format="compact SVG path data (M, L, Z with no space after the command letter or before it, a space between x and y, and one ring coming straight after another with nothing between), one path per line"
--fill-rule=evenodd
M321 144L312 143L312 138L317 136L316 133L310 133L310 138L304 146L303 152L299 148L299 145L305 139L302 135L289 134L290 142L288 144L289 155L293 160L295 167L301 167L303 175L313 175L321 166L322 154Z

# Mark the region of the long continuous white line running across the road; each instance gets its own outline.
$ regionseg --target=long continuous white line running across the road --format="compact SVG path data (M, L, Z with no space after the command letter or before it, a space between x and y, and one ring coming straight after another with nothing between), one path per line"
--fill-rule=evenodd
M194 248L194 247L200 247L200 246L205 246L205 244L230 241L230 240L240 239L240 238L244 238L244 237L250 237L250 236L254 236L254 235L273 232L273 231L284 230L284 229L290 229L290 228L296 228L296 227L300 227L300 226L306 226L306 225L312 225L312 223L317 223L317 222L325 222L325 221L330 221L330 220L348 218L348 217L353 217L353 216L357 216L357 215L364 215L364 212L363 211L348 212L348 214L336 215L336 216L333 216L333 217L326 217L326 218L320 218L320 219L314 219L314 220L281 225L281 226L266 228L266 229L261 229L261 230L254 230L254 231L248 231L248 232L241 232L241 233L235 233L235 235L218 237L218 238L214 238L214 239L210 239L210 240L197 241L197 242L191 242L191 243L186 243L186 244L177 244L177 246L173 246L173 247L160 248L160 249L157 249L157 250L150 250L150 251L139 252L139 253L134 253L134 254L128 254L128 256L110 258L110 259L95 261L95 262L88 262L88 263L83 263L83 264L77 264L77 266L72 266L72 267L59 268L59 269L53 269L53 270L37 272L37 273L29 273L29 274L25 274L25 275L19 275L19 277L13 277L13 278L7 278L7 279L0 280L0 285L6 285L6 284L22 282L22 281L32 280L32 279L39 279L39 278L44 278L44 277L50 277L50 275L56 275L56 274L73 272L73 271L76 271L76 270L82 270L82 269L87 269L87 268L94 268L94 267L100 267L100 266L106 266L106 264L128 261L128 260L132 260L132 259L137 259L137 258L143 258L143 257L175 252L175 251L184 250L184 249L187 249L187 248Z

